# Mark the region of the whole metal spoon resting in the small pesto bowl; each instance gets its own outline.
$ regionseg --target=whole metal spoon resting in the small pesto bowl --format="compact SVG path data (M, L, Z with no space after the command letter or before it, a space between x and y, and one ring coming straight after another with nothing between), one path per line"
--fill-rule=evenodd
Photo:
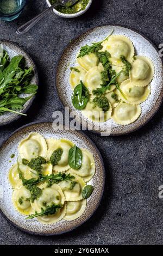
M63 5L65 7L71 7L73 4L75 4L78 0L57 0L57 3L53 4L51 7L49 7L47 10L43 11L41 14L34 17L34 19L28 21L26 24L21 26L17 29L16 33L18 35L21 35L23 33L26 33L29 31L30 28L32 28L37 22L39 22L47 13L49 10L52 10L53 8L57 7L58 5Z

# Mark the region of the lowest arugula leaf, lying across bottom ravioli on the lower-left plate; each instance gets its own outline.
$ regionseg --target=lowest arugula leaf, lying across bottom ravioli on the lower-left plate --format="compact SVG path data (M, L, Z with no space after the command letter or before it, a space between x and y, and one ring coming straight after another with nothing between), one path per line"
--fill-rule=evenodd
M52 204L52 205L48 205L46 206L45 209L41 208L41 212L37 213L35 212L35 214L29 215L26 220L32 219L32 218L36 218L42 215L53 215L55 214L60 208L62 208L62 205L60 204Z

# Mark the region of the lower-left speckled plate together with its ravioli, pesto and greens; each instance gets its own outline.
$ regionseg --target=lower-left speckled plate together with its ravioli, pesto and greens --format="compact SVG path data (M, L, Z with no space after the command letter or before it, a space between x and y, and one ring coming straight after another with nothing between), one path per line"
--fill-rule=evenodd
M83 133L61 128L29 124L1 147L1 211L34 234L78 227L102 198L105 172L99 151Z

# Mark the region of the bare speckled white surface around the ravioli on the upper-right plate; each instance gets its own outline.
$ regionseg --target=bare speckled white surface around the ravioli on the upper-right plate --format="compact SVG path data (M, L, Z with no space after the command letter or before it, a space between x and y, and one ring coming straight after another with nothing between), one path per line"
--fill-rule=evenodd
M121 26L100 26L95 27L86 33L80 35L78 38L71 41L71 43L65 48L62 56L60 58L57 70L57 90L60 100L64 104L64 106L70 107L70 111L74 111L74 107L71 101L72 89L69 82L70 77L70 66L76 65L76 56L79 52L81 46L86 44L90 45L91 42L101 41L106 38L107 35L114 29L114 34L126 35L133 42L135 47L135 52L137 55L143 55L150 58L155 67L154 78L151 82L151 95L148 99L141 103L142 113L134 123L129 125L118 125L112 119L104 123L93 123L94 132L104 132L106 127L110 127L110 135L122 135L129 132L133 132L139 129L141 126L145 125L158 111L163 96L163 69L162 69L162 60L159 57L158 51L154 47L154 45L145 38L145 36L129 29ZM77 116L76 120L79 122L81 118L83 119L83 123L87 123L87 128L91 130L92 121L87 119L82 115L81 111L76 111ZM98 129L96 128L98 127Z

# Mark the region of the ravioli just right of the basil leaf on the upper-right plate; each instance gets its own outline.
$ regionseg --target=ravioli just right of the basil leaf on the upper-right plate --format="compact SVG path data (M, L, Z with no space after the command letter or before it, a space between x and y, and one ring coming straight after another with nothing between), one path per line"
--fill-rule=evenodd
M103 83L101 76L102 71L104 71L104 68L102 65L99 65L86 72L83 82L90 94L92 94L92 91L100 87Z

